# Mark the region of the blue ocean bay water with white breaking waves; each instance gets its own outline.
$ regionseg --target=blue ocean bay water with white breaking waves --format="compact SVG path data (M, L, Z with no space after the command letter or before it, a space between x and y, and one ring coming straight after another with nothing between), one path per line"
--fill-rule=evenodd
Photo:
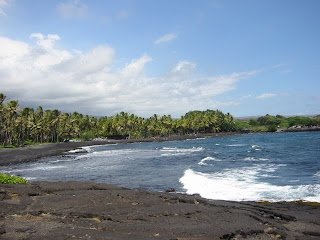
M320 202L320 132L85 147L0 167L30 181L94 181L234 201Z

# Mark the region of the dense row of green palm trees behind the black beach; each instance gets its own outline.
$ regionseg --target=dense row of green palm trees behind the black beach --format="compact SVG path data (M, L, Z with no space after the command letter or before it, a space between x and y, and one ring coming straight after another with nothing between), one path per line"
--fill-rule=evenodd
M156 114L142 118L125 112L97 118L77 112L69 114L43 110L41 106L36 110L28 107L20 109L18 101L5 104L5 95L0 93L0 144L4 146L61 142L74 138L146 138L234 130L232 115L219 110L191 111L180 119Z

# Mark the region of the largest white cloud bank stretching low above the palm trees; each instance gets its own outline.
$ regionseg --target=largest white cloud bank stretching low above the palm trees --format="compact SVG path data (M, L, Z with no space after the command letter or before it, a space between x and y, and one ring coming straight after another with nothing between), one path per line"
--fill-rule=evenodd
M198 77L196 64L180 61L166 73L146 74L152 58L143 54L115 67L115 49L100 45L87 51L56 48L55 34L31 34L34 44L0 37L1 92L24 106L113 115L120 111L141 116L237 105L215 97L257 71Z

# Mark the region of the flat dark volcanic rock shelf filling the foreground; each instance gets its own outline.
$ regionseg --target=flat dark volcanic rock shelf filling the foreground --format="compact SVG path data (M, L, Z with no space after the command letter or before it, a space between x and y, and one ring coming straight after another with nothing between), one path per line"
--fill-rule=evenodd
M320 208L88 182L0 185L1 239L319 239Z

